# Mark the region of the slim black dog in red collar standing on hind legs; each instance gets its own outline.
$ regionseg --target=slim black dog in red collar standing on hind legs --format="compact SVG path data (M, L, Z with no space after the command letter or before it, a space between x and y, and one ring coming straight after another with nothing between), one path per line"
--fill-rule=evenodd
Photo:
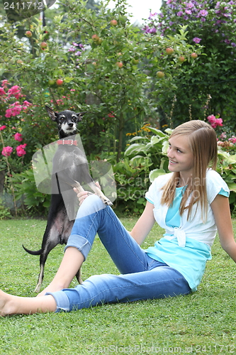
M46 109L52 121L57 123L60 140L57 141L58 148L52 160L52 196L42 247L38 251L30 251L23 246L28 253L40 255L40 274L35 292L39 292L43 282L48 254L57 244L67 244L76 216L75 207L78 204L73 187L81 192L84 190L81 185L84 182L99 195L104 204L112 204L95 185L89 174L86 156L74 140L77 124L82 121L85 112L76 114L74 111L66 110L57 113L50 107L46 106ZM80 270L76 276L79 283L82 283Z

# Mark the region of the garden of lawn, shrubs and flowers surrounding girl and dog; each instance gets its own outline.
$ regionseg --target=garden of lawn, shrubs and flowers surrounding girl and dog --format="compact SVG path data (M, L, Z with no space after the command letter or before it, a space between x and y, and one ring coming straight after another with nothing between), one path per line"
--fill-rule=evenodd
M93 162L111 165L116 182L113 209L128 228L145 207L150 183L168 172L172 130L192 119L208 122L218 136L217 171L230 188L230 209L235 217L236 1L163 1L161 9L150 13L143 25L130 21L125 0L116 0L113 9L108 3L58 0L43 13L17 22L7 21L0 4L1 288L17 295L33 295L38 261L26 255L21 244L38 248L50 206L50 193L38 190L33 168L33 155L58 139L57 126L45 105L57 112L86 112L78 126L86 158L91 168ZM161 236L162 231L155 228L153 233ZM154 234L150 244L153 238ZM215 244L215 258L199 288L201 297L197 293L188 300L177 297L172 303L139 302L137 309L135 305L116 305L84 310L79 317L93 339L85 339L83 329L85 347L79 342L81 324L76 312L69 317L10 317L2 322L2 351L108 353L105 348L99 350L97 342L102 339L104 347L120 346L116 352L137 343L145 346L146 354L154 353L147 350L151 344L162 346L159 354L173 353L163 350L173 344L181 344L182 352L187 353L188 348L191 354L234 354L234 266L220 251L219 242ZM62 249L58 248L47 261L48 280L60 263ZM104 253L100 246L98 250ZM104 255L106 268L101 265L99 253L96 273L105 269L116 273L108 256ZM221 267L228 269L227 277L231 274L232 280L225 279ZM85 269L85 275L95 272L93 262L88 261ZM209 305L209 297L218 292L218 304L213 300ZM38 324L39 319L43 325ZM52 334L51 343L46 328L57 333ZM127 335L125 329L129 328ZM166 340L153 342L166 328ZM43 337L35 340L38 332ZM72 334L77 340L67 351L74 341Z

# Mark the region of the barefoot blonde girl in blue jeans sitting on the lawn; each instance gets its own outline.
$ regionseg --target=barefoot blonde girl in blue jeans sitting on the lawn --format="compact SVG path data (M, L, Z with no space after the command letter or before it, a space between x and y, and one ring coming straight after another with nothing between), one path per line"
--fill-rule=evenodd
M229 189L215 172L217 140L204 121L189 121L169 138L169 170L154 180L147 204L128 232L96 195L78 194L80 207L55 278L37 297L0 291L1 315L60 312L108 302L132 302L197 290L218 229L220 244L236 262ZM147 250L140 245L154 222L166 233ZM120 275L94 275L68 288L96 233Z

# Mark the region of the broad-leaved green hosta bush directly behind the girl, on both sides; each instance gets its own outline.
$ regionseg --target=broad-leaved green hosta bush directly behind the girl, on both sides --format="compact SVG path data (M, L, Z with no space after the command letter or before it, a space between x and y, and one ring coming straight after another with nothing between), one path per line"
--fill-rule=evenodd
M125 150L124 158L114 165L117 182L117 205L130 214L143 211L145 192L150 183L159 175L169 172L167 148L171 129L165 133L148 127L149 134L135 136ZM151 134L152 133L152 134ZM236 201L236 155L218 148L217 172L230 189L230 209L235 213Z

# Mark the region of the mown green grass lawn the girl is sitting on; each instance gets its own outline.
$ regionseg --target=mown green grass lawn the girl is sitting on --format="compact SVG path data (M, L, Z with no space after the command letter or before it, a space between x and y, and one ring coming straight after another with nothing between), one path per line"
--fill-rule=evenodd
M123 223L131 229L135 220L127 218ZM30 256L21 244L40 249L45 224L36 219L0 221L2 290L35 295L39 257ZM154 226L143 247L161 235L162 229ZM57 246L50 253L43 287L57 271L63 249ZM213 260L207 263L196 293L70 313L4 317L0 354L236 354L235 271L235 263L217 238ZM82 268L84 279L95 273L117 273L98 238Z

